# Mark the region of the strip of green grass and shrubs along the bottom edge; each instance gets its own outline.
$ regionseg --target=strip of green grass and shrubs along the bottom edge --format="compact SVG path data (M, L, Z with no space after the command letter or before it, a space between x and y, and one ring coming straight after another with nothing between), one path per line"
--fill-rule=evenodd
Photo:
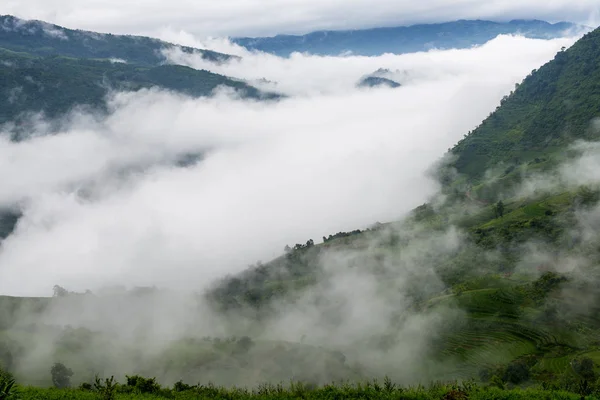
M133 379L132 379L133 378ZM107 383L110 380L107 380ZM98 381L97 381L98 382ZM112 381L111 381L112 382ZM145 389L139 386L150 383ZM502 385L500 385L502 386ZM101 385L102 387L102 385ZM106 386L104 386L106 388ZM429 387L400 387L389 379L383 383L373 381L365 384L326 385L312 387L296 383L283 385L261 385L257 389L227 389L213 385L190 386L178 382L173 388L161 388L153 379L128 377L127 384L117 385L110 392L92 389L23 389L22 400L29 399L419 399L419 400L483 400L483 399L598 399L600 391L596 385L585 384L566 391L557 387L505 389L496 384L479 386L473 382L433 384Z

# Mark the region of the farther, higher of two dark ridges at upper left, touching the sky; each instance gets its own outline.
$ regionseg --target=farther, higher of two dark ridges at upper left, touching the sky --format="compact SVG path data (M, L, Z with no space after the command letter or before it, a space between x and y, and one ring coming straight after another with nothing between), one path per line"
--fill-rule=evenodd
M166 58L161 52L172 48L201 54L204 59L213 62L237 58L149 37L73 30L43 21L22 20L11 15L0 15L0 47L37 56L121 60L143 66L157 66L165 62Z

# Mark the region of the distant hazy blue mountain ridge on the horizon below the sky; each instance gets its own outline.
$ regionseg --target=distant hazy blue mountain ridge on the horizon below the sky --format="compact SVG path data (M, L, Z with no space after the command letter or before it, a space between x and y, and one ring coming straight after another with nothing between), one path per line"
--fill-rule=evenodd
M556 38L567 31L586 27L569 22L550 24L537 20L513 20L507 23L460 20L439 24L421 24L390 28L346 31L318 31L306 35L273 37L238 37L232 41L249 50L288 57L294 52L316 55L378 56L384 53L403 54L433 48L468 48L481 45L502 34L520 34L529 38Z

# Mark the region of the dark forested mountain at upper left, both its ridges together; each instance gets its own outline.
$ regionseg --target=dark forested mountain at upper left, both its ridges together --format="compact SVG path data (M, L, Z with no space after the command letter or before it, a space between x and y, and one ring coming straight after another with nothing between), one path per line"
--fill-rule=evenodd
M216 63L234 57L147 37L0 16L0 124L11 122L18 130L31 113L55 118L74 106L105 111L110 90L159 87L199 97L223 86L247 98L280 97L238 79L169 65L162 51L172 48Z

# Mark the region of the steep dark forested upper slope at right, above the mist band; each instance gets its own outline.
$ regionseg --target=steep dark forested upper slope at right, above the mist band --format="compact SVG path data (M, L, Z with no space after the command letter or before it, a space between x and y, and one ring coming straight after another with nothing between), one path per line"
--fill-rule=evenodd
M452 163L479 182L498 163L504 168L551 158L577 139L598 140L600 30L586 34L533 71L501 107L451 151Z

